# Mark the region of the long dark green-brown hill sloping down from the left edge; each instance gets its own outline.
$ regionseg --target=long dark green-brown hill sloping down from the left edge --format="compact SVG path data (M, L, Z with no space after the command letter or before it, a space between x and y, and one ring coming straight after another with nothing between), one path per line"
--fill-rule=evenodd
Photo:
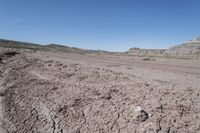
M23 51L52 51L52 52L74 52L74 53L112 53L103 50L87 50L58 44L39 45L29 42L0 39L0 47Z

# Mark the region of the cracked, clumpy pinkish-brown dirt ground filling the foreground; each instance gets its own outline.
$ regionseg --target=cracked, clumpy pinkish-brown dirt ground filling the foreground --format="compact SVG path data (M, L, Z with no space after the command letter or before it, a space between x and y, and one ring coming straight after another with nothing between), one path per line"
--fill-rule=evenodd
M200 132L200 60L0 56L0 133Z

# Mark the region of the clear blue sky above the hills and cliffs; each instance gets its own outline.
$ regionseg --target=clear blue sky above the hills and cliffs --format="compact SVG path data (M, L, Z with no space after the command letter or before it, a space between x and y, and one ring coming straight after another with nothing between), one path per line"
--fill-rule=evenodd
M199 35L200 0L0 0L2 39L127 51Z

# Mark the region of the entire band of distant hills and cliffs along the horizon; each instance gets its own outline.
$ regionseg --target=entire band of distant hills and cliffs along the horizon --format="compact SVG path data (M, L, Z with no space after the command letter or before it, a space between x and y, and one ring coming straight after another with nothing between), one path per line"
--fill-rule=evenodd
M200 57L200 36L184 42L181 45L173 46L169 49L140 49L130 48L127 52L109 52L103 50L87 50L76 47L69 47L58 44L39 45L29 42L20 42L13 40L0 39L0 47L25 50L25 51L51 51L51 52L74 52L74 53L111 53L133 56L185 56Z

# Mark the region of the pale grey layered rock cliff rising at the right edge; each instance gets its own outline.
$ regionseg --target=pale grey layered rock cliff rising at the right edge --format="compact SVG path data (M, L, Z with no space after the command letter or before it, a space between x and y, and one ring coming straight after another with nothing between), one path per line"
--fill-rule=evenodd
M165 53L173 55L200 55L200 36L181 45L171 47Z

